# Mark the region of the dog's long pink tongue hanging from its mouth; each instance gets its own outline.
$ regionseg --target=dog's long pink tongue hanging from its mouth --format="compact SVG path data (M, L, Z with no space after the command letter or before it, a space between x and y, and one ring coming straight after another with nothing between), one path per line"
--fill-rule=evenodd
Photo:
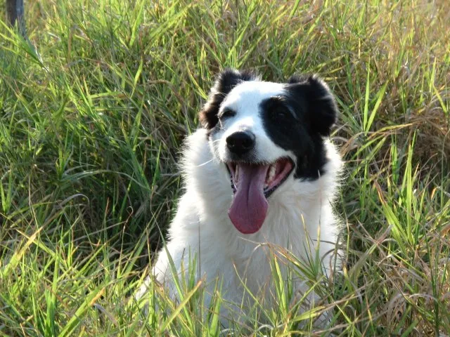
M239 164L239 181L228 215L234 227L243 234L261 228L267 213L264 180L268 166Z

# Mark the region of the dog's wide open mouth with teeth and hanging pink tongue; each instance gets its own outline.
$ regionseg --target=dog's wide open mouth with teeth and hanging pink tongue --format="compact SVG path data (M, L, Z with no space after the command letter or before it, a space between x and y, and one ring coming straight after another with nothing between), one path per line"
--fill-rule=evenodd
M294 164L281 158L272 164L230 162L233 201L228 211L233 225L243 234L255 233L266 218L267 198L288 178Z

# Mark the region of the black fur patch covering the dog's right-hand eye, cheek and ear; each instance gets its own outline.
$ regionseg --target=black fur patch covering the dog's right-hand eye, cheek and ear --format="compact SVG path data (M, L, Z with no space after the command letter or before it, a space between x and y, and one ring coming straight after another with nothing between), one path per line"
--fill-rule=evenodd
M262 101L264 129L297 157L295 178L315 180L326 164L323 136L330 134L338 110L330 91L317 77L291 77L286 94Z

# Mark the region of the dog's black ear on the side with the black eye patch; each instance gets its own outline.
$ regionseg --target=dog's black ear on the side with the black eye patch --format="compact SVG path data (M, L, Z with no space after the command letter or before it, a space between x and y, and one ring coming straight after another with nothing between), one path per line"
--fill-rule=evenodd
M338 106L326 83L316 75L293 76L288 80L290 91L306 102L307 117L314 131L329 136L331 126L338 119Z

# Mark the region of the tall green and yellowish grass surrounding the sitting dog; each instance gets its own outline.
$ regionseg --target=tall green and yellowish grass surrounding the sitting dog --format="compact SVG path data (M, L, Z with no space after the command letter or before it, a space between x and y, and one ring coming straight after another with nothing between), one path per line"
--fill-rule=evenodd
M342 275L316 282L287 258L327 296L332 324L297 311L274 261L279 305L257 302L222 333L450 334L445 1L32 0L26 12L32 45L0 22L1 336L221 333L220 284L211 308L193 278L179 280L179 305L154 287L148 315L127 298L173 216L177 152L222 67L321 74L347 161Z

